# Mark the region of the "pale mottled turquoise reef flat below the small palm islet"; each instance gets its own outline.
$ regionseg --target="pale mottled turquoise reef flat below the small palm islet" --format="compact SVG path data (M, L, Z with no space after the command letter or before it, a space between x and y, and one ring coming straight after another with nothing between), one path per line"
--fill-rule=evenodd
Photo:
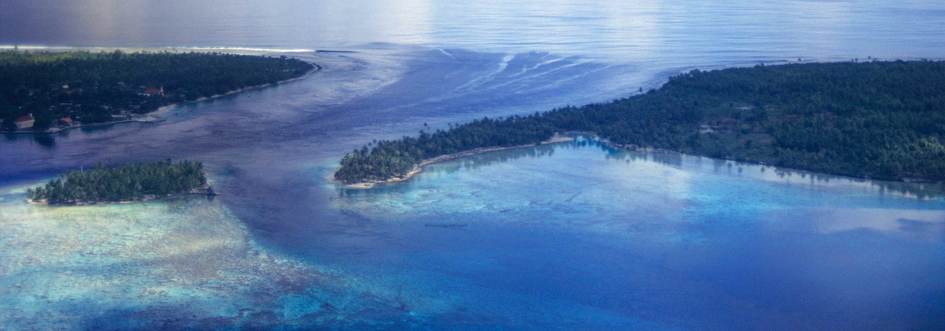
M22 191L0 190L0 329L408 327L438 306L266 252L219 200L46 207Z

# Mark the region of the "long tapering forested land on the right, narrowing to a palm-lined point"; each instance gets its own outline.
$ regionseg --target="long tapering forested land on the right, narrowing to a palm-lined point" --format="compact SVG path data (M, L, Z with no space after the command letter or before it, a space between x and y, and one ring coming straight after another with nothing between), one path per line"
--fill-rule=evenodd
M629 148L879 179L945 179L945 61L759 65L670 77L659 90L527 117L379 141L346 155L345 183L403 175L421 159L593 133Z

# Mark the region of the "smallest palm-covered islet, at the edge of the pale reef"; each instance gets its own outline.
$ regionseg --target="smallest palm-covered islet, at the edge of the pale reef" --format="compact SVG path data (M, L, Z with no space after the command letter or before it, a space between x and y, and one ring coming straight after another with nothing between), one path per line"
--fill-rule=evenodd
M105 168L98 163L89 171L70 171L45 186L26 190L26 198L50 205L121 202L163 197L206 188L207 176L200 162L169 159L153 163L129 163Z

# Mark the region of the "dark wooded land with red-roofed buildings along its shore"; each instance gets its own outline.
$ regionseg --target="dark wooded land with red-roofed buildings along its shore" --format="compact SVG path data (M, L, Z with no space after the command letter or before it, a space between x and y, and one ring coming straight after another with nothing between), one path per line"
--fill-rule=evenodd
M111 122L305 74L296 58L217 53L0 52L3 130L32 114L34 129Z

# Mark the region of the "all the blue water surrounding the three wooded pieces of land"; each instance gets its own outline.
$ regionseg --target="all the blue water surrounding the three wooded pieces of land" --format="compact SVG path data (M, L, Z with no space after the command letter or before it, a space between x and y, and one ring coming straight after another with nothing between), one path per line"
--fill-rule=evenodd
M583 137L373 190L327 178L424 123L607 101L692 68L943 58L941 36L932 1L3 1L3 45L324 69L162 124L0 137L0 328L940 329L940 185ZM163 157L202 160L221 195L24 202L67 169Z

